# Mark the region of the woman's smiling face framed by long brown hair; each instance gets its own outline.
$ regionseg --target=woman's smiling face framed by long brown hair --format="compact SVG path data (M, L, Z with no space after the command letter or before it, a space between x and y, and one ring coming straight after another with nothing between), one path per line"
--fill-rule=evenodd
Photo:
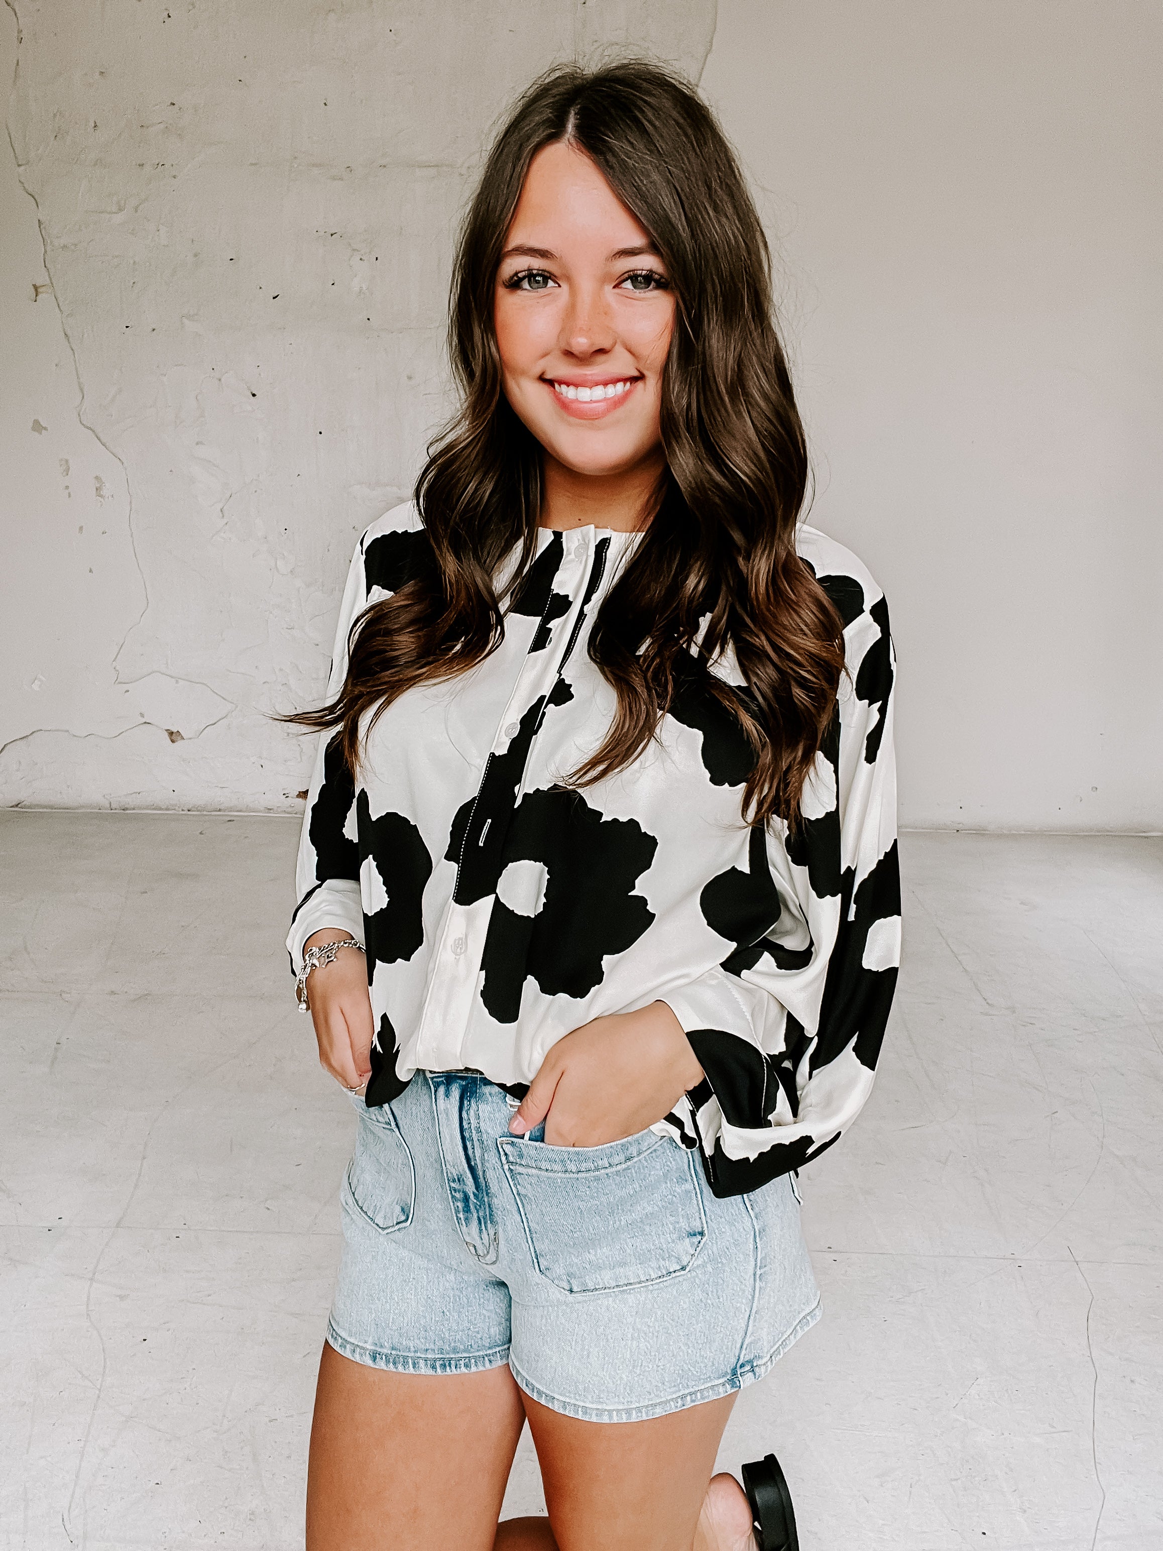
M546 451L547 492L578 476L656 481L675 296L648 234L564 141L529 166L493 316L504 392Z

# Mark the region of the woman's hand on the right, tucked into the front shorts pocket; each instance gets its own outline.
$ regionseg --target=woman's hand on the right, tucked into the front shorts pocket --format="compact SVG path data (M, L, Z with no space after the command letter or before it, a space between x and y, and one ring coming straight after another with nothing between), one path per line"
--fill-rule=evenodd
M509 1129L554 1148L620 1142L670 1114L702 1067L665 1002L583 1024L549 1050Z

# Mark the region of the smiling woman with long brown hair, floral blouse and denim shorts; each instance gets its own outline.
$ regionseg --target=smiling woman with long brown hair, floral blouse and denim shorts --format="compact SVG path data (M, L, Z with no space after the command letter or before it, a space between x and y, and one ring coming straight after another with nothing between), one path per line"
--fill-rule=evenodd
M797 529L766 244L681 81L530 88L450 332L298 718L287 945L360 1114L307 1545L727 1551L727 1413L820 1312L795 1171L896 974L884 597ZM498 1528L526 1419L549 1523Z

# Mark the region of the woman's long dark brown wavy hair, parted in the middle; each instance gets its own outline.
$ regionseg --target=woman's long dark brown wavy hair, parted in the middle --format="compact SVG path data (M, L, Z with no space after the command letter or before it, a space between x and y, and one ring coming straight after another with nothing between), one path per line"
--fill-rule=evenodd
M795 554L808 453L774 324L763 228L713 113L656 64L550 70L498 135L453 273L448 346L462 403L416 484L431 544L419 574L352 625L336 698L288 720L338 729L355 771L364 713L363 737L405 690L465 673L504 636L506 605L535 555L543 492L541 447L502 392L493 296L529 163L555 141L603 172L650 234L676 295L662 377L667 473L589 637L617 709L605 741L568 780L588 786L633 763L693 662L754 749L743 816L794 825L836 706L842 625ZM515 546L519 560L498 589ZM726 647L746 690L710 672Z

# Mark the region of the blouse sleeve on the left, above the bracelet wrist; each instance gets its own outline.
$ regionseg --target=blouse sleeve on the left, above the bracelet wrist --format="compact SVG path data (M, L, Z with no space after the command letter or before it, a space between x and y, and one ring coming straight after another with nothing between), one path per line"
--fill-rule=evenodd
M347 633L368 602L363 541L355 549L343 591L335 631L327 698L333 698L347 673ZM302 963L304 943L323 927L350 932L364 940L360 898L360 848L355 834L355 783L340 758L336 735L319 734L315 771L307 788L307 811L295 867L298 904L287 934L292 969Z

